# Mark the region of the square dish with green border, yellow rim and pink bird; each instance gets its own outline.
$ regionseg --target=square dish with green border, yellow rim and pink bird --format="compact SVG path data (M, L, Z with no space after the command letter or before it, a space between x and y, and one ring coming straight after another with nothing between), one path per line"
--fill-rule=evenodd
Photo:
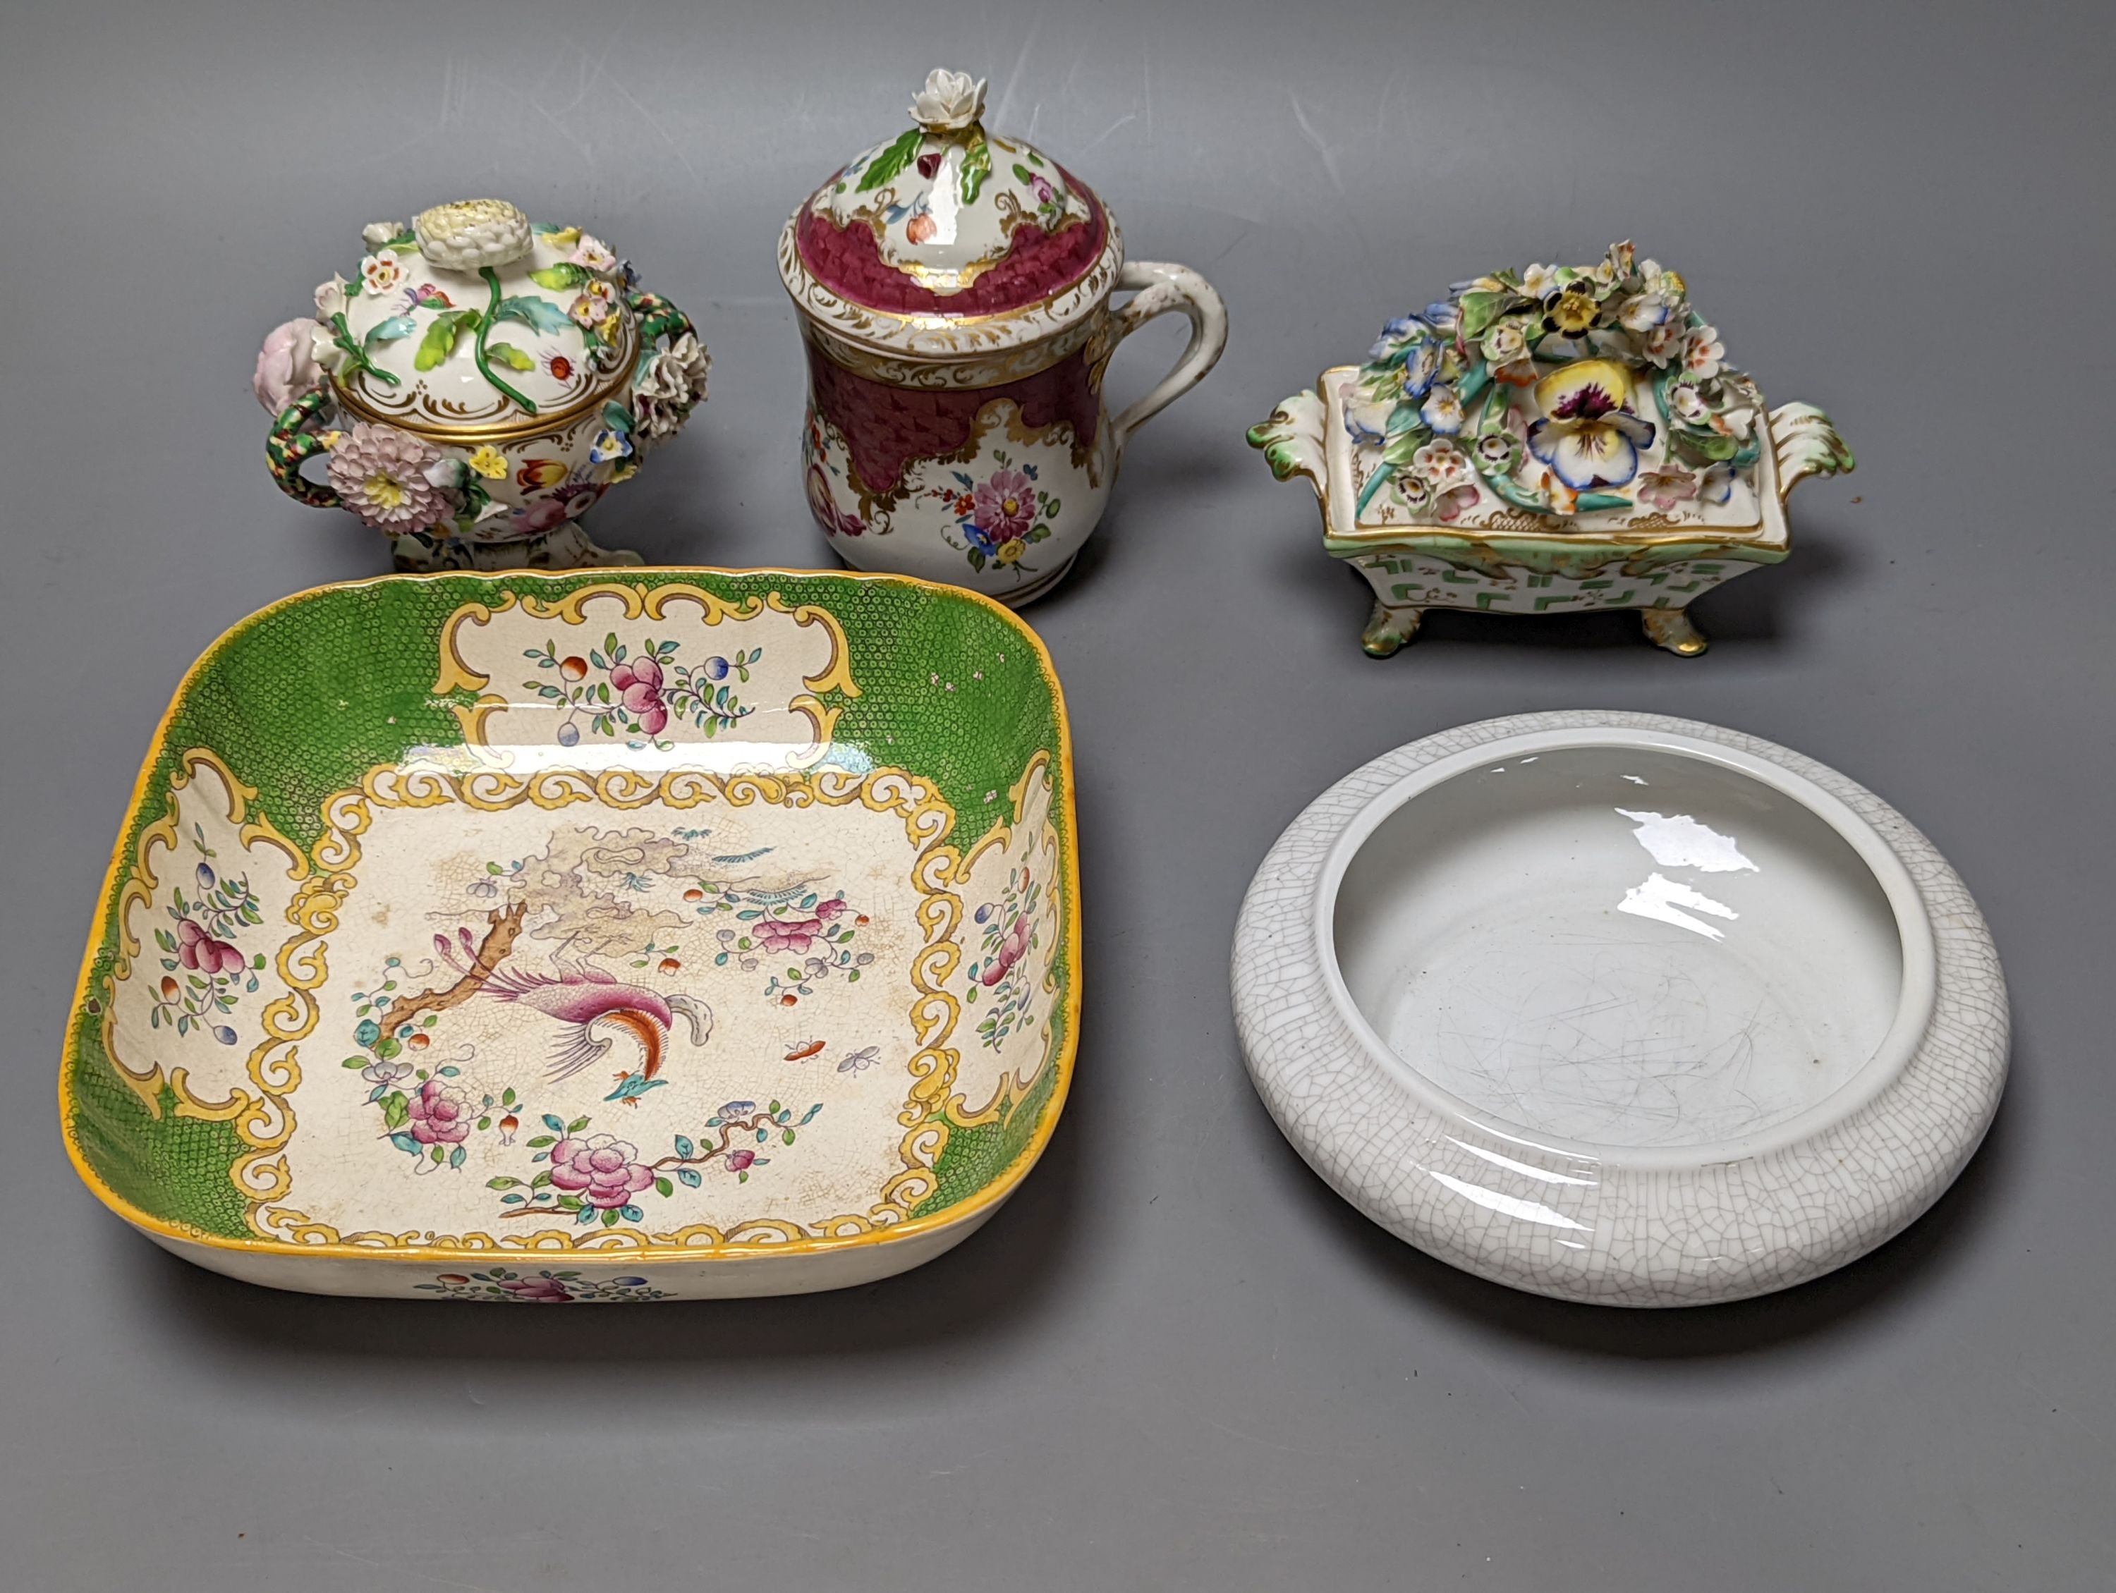
M277 1288L838 1288L982 1225L1073 1068L1050 656L893 575L394 575L214 643L59 1075L125 1221Z

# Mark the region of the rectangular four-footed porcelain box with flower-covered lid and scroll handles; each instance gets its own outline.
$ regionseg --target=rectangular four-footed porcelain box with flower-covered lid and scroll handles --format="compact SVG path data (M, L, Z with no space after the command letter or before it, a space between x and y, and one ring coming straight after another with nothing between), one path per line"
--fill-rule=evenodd
M1426 609L1638 609L1695 656L1689 605L1790 552L1786 495L1852 470L1813 404L1767 410L1674 271L1585 267L1456 286L1248 432L1322 501L1322 546L1373 586L1384 658Z

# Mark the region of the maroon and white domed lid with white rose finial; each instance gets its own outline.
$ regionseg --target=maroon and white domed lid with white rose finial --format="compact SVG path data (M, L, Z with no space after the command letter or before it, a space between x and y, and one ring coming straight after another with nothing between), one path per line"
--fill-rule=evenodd
M978 347L1045 336L1090 313L1124 250L1094 193L1020 140L984 129L984 83L935 70L914 125L853 157L794 214L787 292L859 341L961 351L931 334L984 317Z

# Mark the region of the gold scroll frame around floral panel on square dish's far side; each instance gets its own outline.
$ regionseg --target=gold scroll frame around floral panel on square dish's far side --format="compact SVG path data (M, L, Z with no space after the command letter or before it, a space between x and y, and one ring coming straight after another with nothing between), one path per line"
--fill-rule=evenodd
M800 713L815 728L815 747L804 751L796 764L817 764L829 751L832 736L838 728L838 715L844 713L842 707L827 707L821 700L821 692L838 692L846 698L859 696L859 688L853 683L851 666L851 643L844 637L844 626L838 616L829 609L817 607L815 603L789 603L781 592L772 590L764 597L747 597L741 603L730 603L717 592L707 592L703 586L641 586L637 582L595 582L567 592L563 599L544 601L535 597L518 597L514 590L501 590L497 603L463 603L446 620L440 622L440 673L434 679L436 696L446 696L453 692L476 692L476 702L455 702L451 713L463 728L463 740L472 747L489 747L485 721L493 713L501 713L514 707L514 698L501 696L497 692L487 692L485 688L493 683L491 675L482 675L472 669L463 658L459 647L459 633L466 624L485 626L497 614L521 607L537 620L559 620L561 624L586 624L586 605L599 597L616 597L624 603L624 620L664 620L667 609L673 601L696 603L705 624L717 626L728 620L743 624L747 620L762 618L764 614L783 614L798 626L823 626L823 635L829 637L829 662L823 664L815 675L804 675L802 685L806 694L787 700L787 711Z

